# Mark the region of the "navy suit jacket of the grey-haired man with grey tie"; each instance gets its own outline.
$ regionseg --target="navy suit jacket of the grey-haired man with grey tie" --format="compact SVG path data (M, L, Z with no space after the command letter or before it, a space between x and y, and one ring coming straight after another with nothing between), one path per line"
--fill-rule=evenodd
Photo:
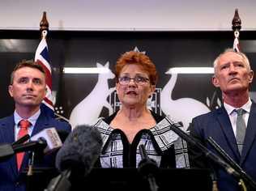
M190 125L190 134L198 138L208 149L215 152L206 140L210 136L217 142L229 156L231 156L248 175L256 180L256 104L250 108L250 117L246 128L245 142L241 155L232 125L225 108L219 108L198 117L194 117ZM192 167L209 167L209 162L203 155L189 144L190 163ZM212 163L211 163L212 167ZM213 164L220 191L236 191L239 189L237 180L228 175L223 168Z

